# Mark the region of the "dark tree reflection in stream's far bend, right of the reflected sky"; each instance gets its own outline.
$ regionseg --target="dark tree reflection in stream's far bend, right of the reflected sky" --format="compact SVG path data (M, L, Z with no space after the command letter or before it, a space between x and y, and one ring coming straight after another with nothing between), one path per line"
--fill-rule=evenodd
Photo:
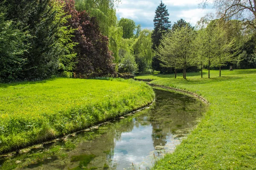
M151 110L149 121L153 127L152 139L154 147L164 146L166 138L176 130L192 128L197 117L204 112L205 106L201 101L183 94L157 91L157 101Z

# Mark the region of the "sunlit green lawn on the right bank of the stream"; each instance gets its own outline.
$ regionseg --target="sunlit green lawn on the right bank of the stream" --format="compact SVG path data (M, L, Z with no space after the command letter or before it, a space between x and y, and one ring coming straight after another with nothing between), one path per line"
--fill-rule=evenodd
M207 99L209 110L191 134L157 161L155 170L256 169L256 69L211 71L211 78L188 73L142 75L152 84L195 92Z

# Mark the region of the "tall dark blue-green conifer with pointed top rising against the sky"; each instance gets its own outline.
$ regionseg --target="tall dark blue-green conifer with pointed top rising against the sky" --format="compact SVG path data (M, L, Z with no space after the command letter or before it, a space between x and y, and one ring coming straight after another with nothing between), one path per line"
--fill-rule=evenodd
M160 44L161 37L166 31L168 31L171 28L171 22L169 21L169 13L166 9L166 5L161 1L160 5L157 6L157 9L155 11L155 17L154 17L154 31L152 33L152 48L153 50L156 50L157 47ZM153 58L153 64L152 67L160 71L160 60L157 59L157 57Z

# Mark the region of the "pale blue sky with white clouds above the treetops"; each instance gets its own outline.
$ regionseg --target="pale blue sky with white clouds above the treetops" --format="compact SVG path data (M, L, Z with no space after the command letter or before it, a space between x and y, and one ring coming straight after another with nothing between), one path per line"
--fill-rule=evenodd
M136 25L141 24L142 28L154 29L154 15L157 6L161 0L121 0L116 7L116 16L118 20L122 17L135 21ZM169 21L174 24L182 18L195 26L196 22L207 13L215 13L212 5L206 9L198 8L198 0L163 0L166 9L169 12Z

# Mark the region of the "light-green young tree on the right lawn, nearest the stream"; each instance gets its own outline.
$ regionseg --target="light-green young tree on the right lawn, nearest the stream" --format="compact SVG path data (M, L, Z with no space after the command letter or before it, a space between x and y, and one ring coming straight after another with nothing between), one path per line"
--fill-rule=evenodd
M196 65L196 48L192 42L195 39L195 31L189 27L182 27L163 36L157 54L166 67L183 69L186 79L186 69Z

